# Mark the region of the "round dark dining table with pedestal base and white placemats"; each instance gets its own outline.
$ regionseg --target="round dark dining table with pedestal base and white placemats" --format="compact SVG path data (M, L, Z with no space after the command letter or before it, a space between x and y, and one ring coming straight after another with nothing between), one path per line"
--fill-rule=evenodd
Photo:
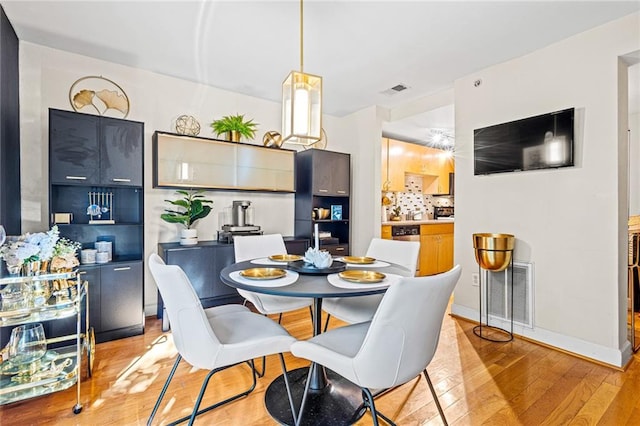
M357 284L340 279L335 271L344 264L346 270L381 272L385 278L380 283ZM298 265L296 265L298 266ZM278 280L244 278L240 273L252 268L278 268L286 276ZM228 286L256 293L286 297L313 298L313 334L322 332L322 300L334 297L360 297L384 293L389 285L402 276L412 275L399 265L375 261L372 264L350 264L334 260L328 270L293 267L293 263L274 262L268 258L238 262L220 272L220 279ZM311 369L311 375L308 375ZM310 377L309 395L302 414L301 425L351 425L365 413L362 390L342 376L316 363L309 367L291 370L287 374L294 406L299 407L307 377ZM289 406L282 375L274 379L265 392L265 405L269 414L280 424L293 425L295 421Z

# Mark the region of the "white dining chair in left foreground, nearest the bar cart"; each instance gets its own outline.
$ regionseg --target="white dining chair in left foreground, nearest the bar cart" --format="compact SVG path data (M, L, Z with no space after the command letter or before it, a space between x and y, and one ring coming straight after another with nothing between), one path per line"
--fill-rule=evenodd
M289 351L295 338L275 321L240 305L209 308L205 312L184 271L177 265L165 265L157 254L149 257L149 269L171 320L171 332L178 357L158 395L147 425L151 425L182 359L195 368L209 370L209 373L204 378L191 415L172 424L188 419L191 425L196 416L251 393L257 382L253 359L273 354L280 356L289 404L292 412L295 412L282 355ZM200 409L202 397L213 375L245 362L251 366L252 386L235 396Z

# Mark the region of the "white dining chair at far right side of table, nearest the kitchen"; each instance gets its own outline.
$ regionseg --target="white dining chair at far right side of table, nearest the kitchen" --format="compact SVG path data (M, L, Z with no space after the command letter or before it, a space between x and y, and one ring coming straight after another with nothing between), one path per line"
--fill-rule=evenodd
M419 254L420 242L418 241L373 238L369 243L366 256L399 265L405 269L399 275L413 277L418 265ZM382 296L382 294L372 294L369 296L324 299L322 310L327 313L324 329L326 330L329 326L329 320L332 316L349 324L370 321L376 309L378 309Z

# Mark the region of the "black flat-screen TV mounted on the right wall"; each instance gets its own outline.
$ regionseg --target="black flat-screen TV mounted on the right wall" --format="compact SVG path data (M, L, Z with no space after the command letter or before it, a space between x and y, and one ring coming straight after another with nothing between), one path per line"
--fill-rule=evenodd
M573 166L574 108L473 131L474 175Z

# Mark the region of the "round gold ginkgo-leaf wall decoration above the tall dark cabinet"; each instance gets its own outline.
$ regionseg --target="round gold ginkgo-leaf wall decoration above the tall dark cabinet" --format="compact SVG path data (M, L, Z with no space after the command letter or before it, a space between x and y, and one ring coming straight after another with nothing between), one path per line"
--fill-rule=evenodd
M98 115L129 115L129 97L114 81L88 75L77 79L69 88L69 102L74 111L97 112ZM109 114L107 114L109 113Z

